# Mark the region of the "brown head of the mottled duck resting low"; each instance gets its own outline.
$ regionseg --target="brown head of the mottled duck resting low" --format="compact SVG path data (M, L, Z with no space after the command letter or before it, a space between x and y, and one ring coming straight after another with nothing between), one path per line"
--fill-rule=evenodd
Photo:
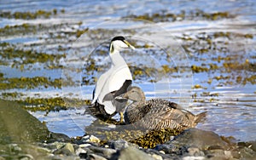
M138 87L129 87L127 92L123 94L122 97L135 102L140 102L145 100L145 95L143 93L143 90Z

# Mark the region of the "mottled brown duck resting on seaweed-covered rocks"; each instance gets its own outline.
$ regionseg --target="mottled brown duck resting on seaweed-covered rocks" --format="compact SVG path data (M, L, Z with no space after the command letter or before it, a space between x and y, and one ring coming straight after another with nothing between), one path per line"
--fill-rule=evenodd
M133 123L133 126L138 129L194 128L207 115L207 112L194 115L168 100L146 101L143 90L138 87L130 87L122 97L132 100L131 105L125 108L125 123Z

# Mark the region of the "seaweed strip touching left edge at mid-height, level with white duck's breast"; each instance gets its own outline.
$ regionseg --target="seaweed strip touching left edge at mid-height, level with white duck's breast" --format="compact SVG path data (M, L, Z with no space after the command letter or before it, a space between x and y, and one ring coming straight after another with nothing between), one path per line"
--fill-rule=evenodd
M0 77L0 89L35 89L54 87L61 89L61 78L51 80L49 77Z

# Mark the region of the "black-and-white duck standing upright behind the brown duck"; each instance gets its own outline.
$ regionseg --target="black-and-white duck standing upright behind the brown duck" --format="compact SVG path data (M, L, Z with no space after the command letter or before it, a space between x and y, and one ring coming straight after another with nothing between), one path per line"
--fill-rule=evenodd
M123 57L119 54L122 49L134 47L125 40L125 37L113 37L109 45L109 56L112 60L111 68L99 77L93 90L90 111L96 117L108 119L117 112L122 121L122 110L127 100L115 100L115 97L124 94L131 85L131 71Z

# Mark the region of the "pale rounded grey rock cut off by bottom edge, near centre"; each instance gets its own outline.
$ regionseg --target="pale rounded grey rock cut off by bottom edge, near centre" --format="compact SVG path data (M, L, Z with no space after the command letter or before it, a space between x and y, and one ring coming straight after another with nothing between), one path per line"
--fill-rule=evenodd
M111 159L119 159L119 160L131 160L131 159L150 160L152 159L153 160L154 158L133 146L128 146L118 151L116 154L113 154L113 157L111 157Z

